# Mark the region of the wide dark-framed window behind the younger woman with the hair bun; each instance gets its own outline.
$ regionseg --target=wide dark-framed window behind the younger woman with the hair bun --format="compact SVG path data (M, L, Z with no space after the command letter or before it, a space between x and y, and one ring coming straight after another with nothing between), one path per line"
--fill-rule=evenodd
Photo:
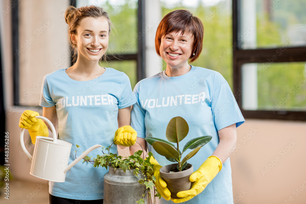
M12 8L14 105L39 106L43 76L71 66L67 41L68 25L64 20L65 9L69 3L73 6L102 4L110 14L116 30L110 38L108 64L102 65L120 66L118 70L129 76L133 88L138 80L145 77L143 70L145 35L138 34L138 31L143 30L145 26L144 2L144 0L14 2Z

